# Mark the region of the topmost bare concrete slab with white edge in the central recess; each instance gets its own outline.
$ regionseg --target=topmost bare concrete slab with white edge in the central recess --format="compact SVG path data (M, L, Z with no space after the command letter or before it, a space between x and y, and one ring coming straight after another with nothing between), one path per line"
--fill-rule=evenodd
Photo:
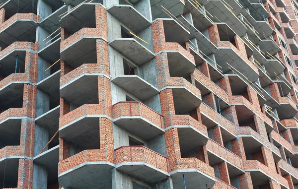
M107 11L126 26L130 26L135 33L139 33L151 25L151 22L131 5L113 5Z

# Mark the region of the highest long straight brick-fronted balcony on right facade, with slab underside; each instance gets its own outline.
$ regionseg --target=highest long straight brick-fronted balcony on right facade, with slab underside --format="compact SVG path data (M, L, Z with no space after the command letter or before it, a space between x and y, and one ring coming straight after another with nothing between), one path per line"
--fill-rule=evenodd
M196 87L200 89L201 95L204 96L212 91L216 96L221 98L221 108L229 107L229 95L211 79L205 76L201 71L195 69L194 72Z

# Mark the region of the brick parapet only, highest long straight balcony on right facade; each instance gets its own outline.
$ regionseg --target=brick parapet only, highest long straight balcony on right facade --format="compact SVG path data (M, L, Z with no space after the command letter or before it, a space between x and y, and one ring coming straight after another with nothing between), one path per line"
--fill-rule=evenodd
M209 90L211 90L215 95L222 98L226 103L229 103L229 95L217 84L215 84L210 78L200 72L198 69L194 71L194 78L205 85Z

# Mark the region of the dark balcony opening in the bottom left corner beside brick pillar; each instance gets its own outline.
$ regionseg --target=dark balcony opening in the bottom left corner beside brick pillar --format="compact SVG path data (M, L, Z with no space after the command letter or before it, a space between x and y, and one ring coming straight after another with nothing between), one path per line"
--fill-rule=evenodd
M0 178L2 178L0 181L0 189L17 188L18 164L18 159L6 159L0 162ZM5 178L4 183L3 178Z

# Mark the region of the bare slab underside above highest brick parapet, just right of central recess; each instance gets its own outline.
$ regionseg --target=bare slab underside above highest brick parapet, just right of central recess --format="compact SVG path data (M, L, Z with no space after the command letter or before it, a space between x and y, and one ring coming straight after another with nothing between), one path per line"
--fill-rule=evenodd
M180 23L172 18L163 18L164 35L166 42L179 43L184 46L190 39L190 33Z

